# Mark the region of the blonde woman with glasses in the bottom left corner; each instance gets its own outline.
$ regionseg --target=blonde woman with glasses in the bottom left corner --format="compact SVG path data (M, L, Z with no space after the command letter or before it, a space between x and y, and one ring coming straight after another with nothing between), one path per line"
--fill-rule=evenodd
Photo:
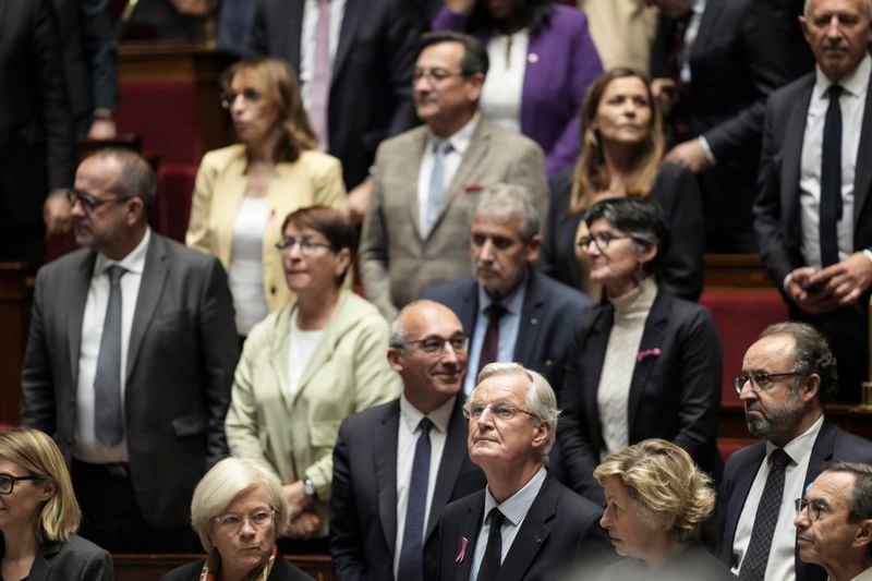
M109 553L75 534L81 517L55 441L29 427L0 433L0 579L113 579Z

